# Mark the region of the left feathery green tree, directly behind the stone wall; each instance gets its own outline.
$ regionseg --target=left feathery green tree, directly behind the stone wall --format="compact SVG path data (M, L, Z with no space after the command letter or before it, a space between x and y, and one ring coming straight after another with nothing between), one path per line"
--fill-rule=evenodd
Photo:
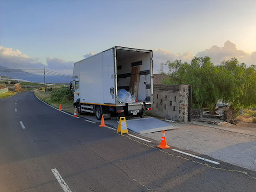
M190 64L176 60L167 61L169 79L166 84L191 84L193 87L193 108L213 109L220 99L220 91L216 87L217 69L209 57L195 57Z

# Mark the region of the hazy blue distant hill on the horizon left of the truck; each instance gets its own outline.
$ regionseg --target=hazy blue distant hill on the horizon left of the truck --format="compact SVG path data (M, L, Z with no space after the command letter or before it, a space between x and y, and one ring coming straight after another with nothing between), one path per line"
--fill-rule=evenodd
M9 69L4 66L0 66L0 69ZM34 73L27 73L27 72L1 72L0 76L8 76L12 78L17 79L24 79L31 82L45 82L44 75L37 75ZM60 77L60 76L54 76L54 75L47 75L46 74L46 83L69 83L70 81L74 80L73 78L66 78L66 77Z

